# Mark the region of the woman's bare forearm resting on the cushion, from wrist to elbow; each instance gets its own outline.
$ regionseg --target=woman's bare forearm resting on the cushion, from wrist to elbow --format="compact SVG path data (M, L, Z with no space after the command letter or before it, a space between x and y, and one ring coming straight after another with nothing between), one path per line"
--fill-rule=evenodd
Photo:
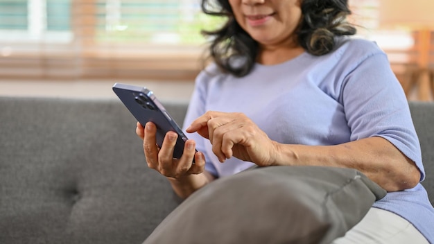
M355 168L386 191L413 188L420 180L415 163L381 137L336 146L278 144L274 165Z

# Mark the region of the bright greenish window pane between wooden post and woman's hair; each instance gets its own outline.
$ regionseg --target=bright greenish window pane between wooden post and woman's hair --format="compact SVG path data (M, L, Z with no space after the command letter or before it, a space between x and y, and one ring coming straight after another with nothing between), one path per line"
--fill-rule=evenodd
M97 8L105 7L100 4ZM202 44L205 42L205 37L200 34L200 30L218 28L222 24L223 19L207 16L200 11L199 7L187 10L182 10L182 7L179 1L122 3L121 14L117 19L110 19L110 12L98 15L97 40L125 43Z

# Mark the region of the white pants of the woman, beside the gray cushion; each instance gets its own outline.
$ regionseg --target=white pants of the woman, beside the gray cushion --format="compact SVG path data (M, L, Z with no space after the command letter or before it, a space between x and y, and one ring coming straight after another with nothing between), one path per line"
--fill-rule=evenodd
M331 244L428 244L426 238L406 219L372 207L345 236Z

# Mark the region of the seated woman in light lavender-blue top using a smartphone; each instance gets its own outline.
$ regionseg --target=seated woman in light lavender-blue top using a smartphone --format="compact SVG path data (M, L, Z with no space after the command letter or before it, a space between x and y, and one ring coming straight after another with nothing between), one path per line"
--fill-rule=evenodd
M155 125L138 124L148 166L182 198L255 164L356 168L388 195L334 243L434 242L406 97L385 53L346 37L356 33L347 1L202 0L202 8L227 24L206 33L214 64L196 80L184 122L192 134L173 160L176 134L157 148Z

